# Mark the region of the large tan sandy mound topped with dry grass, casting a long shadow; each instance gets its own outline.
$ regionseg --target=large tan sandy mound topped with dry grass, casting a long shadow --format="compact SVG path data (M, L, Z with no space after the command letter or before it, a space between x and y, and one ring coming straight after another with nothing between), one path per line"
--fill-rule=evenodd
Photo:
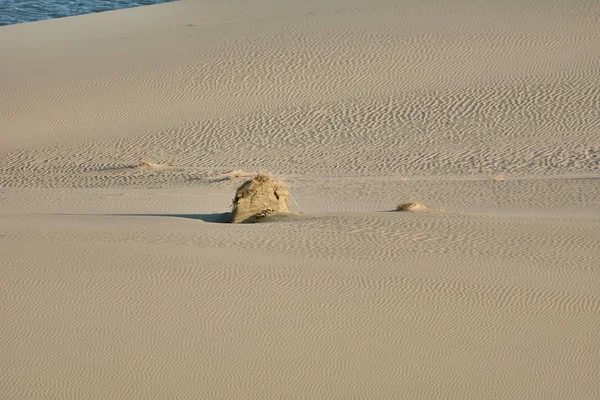
M230 223L252 223L275 213L289 213L289 192L285 182L258 174L235 192Z

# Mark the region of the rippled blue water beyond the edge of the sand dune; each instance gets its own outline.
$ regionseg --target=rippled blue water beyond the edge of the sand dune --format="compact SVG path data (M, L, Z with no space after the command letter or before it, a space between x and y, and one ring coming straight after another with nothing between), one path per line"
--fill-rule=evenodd
M174 0L0 0L0 26Z

